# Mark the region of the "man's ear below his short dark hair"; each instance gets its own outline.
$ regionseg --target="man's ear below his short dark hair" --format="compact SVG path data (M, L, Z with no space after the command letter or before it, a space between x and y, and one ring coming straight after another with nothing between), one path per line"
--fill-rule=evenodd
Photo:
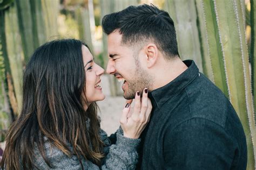
M147 55L147 68L151 68L156 64L158 58L158 48L156 44L147 44L145 46L145 53Z

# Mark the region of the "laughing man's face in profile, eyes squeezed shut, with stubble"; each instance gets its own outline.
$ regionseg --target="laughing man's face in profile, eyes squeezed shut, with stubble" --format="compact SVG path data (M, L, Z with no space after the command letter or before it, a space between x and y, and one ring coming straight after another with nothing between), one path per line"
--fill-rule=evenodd
M136 91L150 88L151 77L141 65L142 50L121 44L122 34L114 31L107 37L109 61L106 72L123 83L124 98L134 98Z

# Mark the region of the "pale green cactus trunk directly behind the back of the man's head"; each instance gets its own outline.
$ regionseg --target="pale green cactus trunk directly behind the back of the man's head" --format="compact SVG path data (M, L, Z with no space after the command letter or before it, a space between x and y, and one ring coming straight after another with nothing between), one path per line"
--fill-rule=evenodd
M174 21L181 59L193 59L203 72L194 1L166 0L166 8Z

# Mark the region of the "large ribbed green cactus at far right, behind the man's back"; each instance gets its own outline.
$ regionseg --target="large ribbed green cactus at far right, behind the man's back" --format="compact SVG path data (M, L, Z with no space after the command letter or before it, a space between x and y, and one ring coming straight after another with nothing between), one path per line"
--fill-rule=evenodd
M242 3L196 0L206 74L237 111L246 133L247 169L254 169L256 129Z

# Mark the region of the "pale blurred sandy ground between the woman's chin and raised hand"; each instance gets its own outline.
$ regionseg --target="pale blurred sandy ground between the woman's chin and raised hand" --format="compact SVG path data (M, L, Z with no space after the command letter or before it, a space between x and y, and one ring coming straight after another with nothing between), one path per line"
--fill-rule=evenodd
M111 134L116 132L119 128L119 120L122 114L122 109L125 105L125 99L123 96L112 97L109 91L109 81L107 79L108 75L102 76L102 90L106 95L105 100L97 102L100 108L100 112L98 113L102 122L100 125L101 128L107 132L107 134ZM121 88L121 87L120 87Z

